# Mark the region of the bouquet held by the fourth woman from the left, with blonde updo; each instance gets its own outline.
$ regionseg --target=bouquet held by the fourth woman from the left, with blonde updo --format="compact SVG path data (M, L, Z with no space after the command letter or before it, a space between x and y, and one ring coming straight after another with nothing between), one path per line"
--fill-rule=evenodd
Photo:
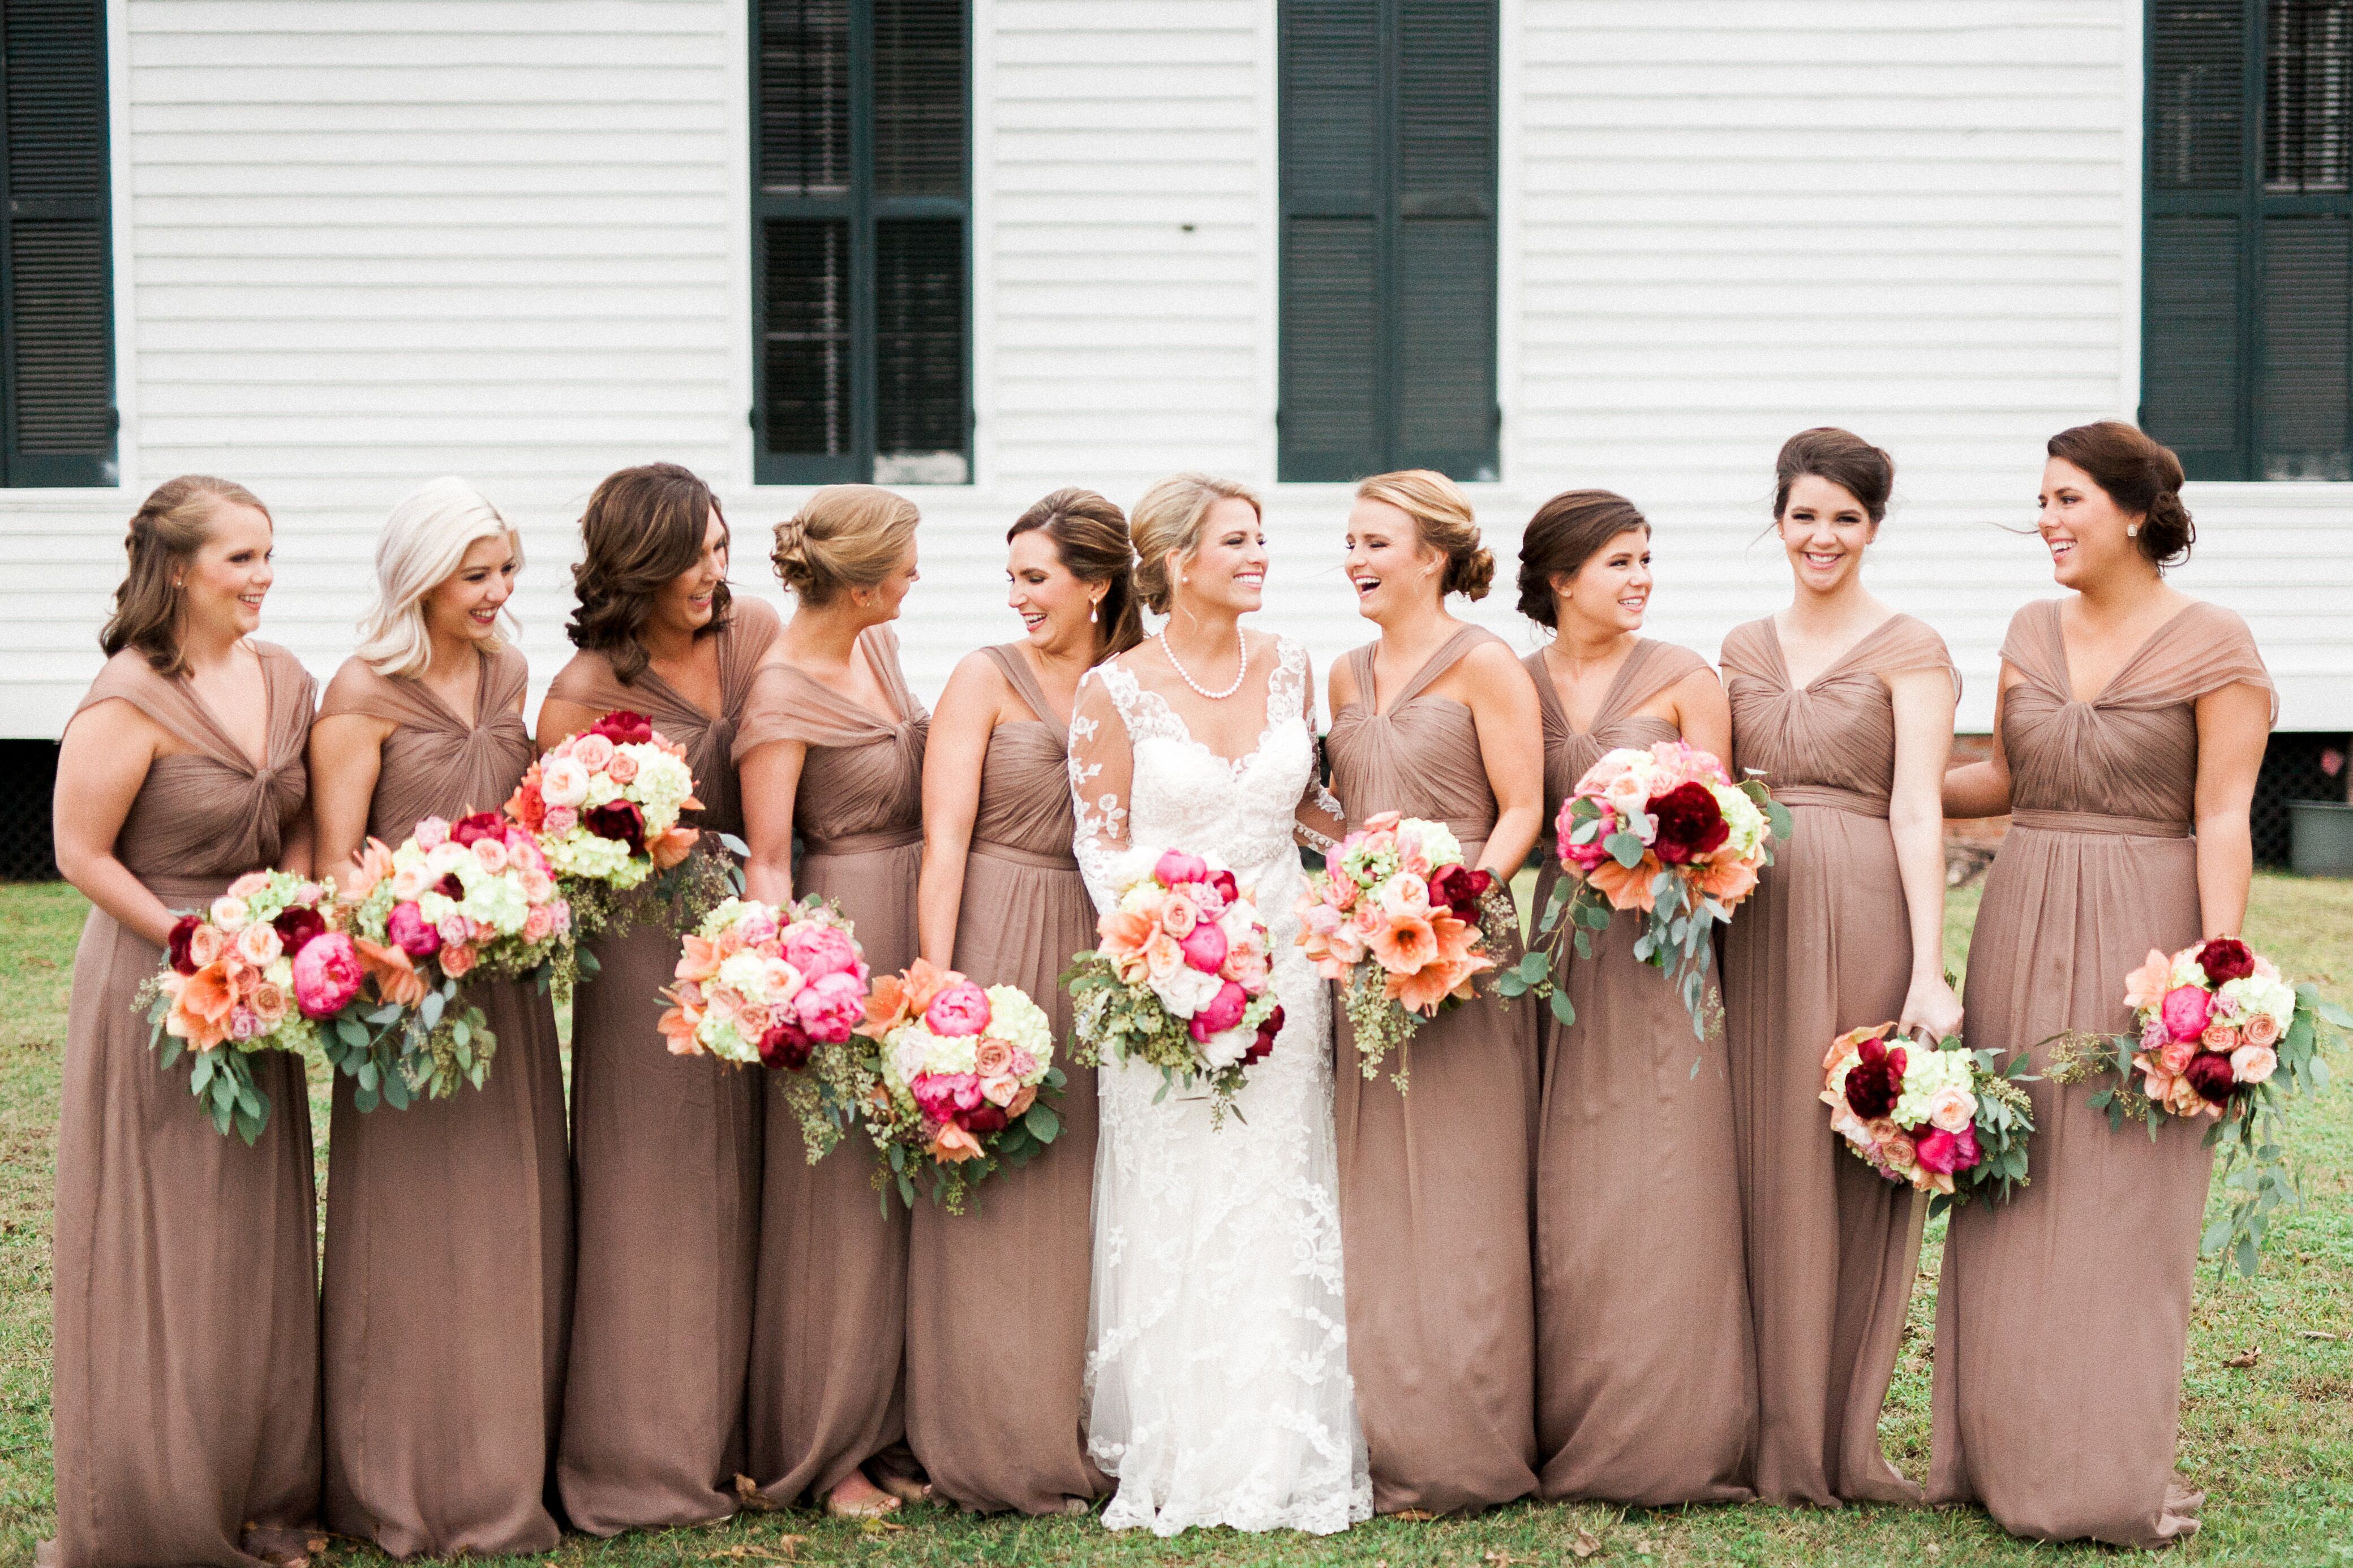
M779 910L729 898L680 938L659 1027L673 1056L788 1074L784 1098L816 1164L866 1105L871 1072L849 1037L866 1018L868 978L856 933L831 900L812 893Z

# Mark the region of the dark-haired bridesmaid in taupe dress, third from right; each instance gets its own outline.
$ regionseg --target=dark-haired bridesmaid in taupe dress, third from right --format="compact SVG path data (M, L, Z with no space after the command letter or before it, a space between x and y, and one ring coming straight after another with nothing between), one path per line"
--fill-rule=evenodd
M1602 752L1687 741L1732 755L1708 661L1642 637L1649 522L1572 489L1520 536L1520 614L1544 703L1541 912L1560 879L1551 823ZM1732 1079L1666 976L1614 919L1560 966L1577 1004L1544 1030L1537 1131L1537 1441L1544 1495L1668 1507L1739 1502L1755 1420L1755 1340L1732 1154ZM1713 992L1713 987L1711 987ZM1713 997L1711 997L1713 999ZM1692 1063L1706 1058L1701 1072ZM1673 1248L1628 1269L1654 1237Z

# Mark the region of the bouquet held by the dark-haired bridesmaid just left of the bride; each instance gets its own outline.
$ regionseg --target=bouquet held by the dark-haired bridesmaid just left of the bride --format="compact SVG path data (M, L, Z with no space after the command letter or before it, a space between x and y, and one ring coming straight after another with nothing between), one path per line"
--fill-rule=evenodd
M981 990L953 969L915 959L875 985L859 1027L875 1041L866 1131L889 1192L915 1206L918 1180L934 1204L962 1213L972 1182L1000 1164L1024 1166L1061 1133L1040 1100L1061 1088L1054 1025L1014 985Z

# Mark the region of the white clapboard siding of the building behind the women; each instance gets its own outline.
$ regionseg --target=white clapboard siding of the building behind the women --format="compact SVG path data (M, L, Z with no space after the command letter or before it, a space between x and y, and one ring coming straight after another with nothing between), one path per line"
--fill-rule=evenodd
M911 489L901 623L936 693L1016 635L1002 534L1061 484L1261 484L1266 621L1327 668L1367 635L1346 487L1275 487L1275 7L974 0L976 484ZM1991 715L2042 442L2137 402L2139 0L1506 0L1501 559L1605 484L1657 524L1652 630L1708 654L1786 590L1772 456L1842 423L1899 458L1871 583ZM54 736L144 487L228 473L280 520L264 635L325 675L374 529L435 473L522 527L518 611L565 656L595 480L751 484L744 0L118 0L122 491L0 491L0 733ZM2184 588L2249 618L2282 724L2353 726L2353 487L2200 484Z

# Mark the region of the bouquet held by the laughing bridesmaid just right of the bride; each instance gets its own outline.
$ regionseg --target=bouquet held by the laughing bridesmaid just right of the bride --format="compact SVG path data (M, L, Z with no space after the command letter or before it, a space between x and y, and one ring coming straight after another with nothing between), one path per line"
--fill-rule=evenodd
M1315 973L1341 985L1365 1077L1405 1048L1424 1018L1471 999L1471 980L1489 969L1480 910L1494 877L1464 865L1445 823L1381 811L1341 839L1325 870L1299 898L1299 945Z

